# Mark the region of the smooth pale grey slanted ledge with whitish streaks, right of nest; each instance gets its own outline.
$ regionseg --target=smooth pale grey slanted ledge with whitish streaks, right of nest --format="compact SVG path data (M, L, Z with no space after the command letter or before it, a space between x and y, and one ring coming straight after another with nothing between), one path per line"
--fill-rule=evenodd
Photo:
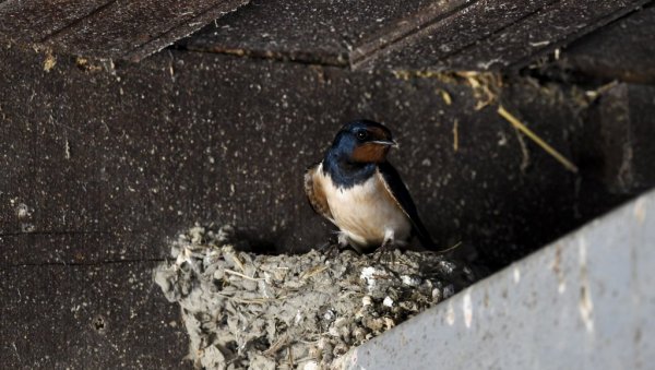
M368 342L344 368L647 368L654 215L651 191Z

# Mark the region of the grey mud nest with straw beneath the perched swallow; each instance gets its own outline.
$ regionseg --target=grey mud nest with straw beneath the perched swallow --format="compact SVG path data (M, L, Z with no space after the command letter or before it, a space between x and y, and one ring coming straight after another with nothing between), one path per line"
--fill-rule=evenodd
M236 242L229 226L195 226L155 271L181 307L198 368L334 368L352 347L475 279L429 252L257 255Z

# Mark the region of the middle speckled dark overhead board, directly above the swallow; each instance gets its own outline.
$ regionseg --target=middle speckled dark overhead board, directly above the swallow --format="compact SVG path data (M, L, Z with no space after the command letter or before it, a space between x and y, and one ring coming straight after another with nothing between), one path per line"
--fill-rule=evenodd
M448 13L464 0L386 2L252 1L178 43L191 50L347 65L361 45L381 45L420 19Z

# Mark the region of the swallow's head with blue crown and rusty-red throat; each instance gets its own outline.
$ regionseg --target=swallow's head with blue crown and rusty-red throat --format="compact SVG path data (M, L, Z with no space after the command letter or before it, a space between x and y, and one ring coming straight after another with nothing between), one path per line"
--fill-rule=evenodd
M381 123L357 120L344 124L338 131L331 150L350 163L381 163L392 146L391 131Z

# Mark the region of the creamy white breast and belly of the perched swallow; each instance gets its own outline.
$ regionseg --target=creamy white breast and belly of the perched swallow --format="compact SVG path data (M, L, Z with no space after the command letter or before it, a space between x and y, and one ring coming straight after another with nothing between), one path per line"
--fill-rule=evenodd
M317 177L323 186L333 223L353 242L380 246L390 231L396 241L409 238L409 219L388 192L380 174L347 189L336 187L323 174L322 165Z

